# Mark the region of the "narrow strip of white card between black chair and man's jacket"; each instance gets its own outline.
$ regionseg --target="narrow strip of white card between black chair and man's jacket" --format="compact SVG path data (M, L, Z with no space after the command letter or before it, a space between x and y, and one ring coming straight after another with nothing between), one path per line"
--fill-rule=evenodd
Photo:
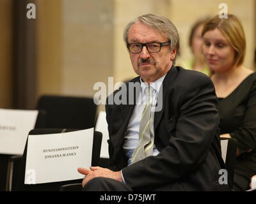
M100 158L109 158L108 154L108 122L106 120L106 112L99 112L98 119L95 126L95 131L102 133L102 143L100 149Z

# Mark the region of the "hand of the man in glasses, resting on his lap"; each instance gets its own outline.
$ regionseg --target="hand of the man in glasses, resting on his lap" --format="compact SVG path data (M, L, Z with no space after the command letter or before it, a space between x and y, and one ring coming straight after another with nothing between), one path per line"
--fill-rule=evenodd
M79 167L77 171L85 175L82 186L84 187L90 180L95 177L106 177L110 179L119 180L123 182L121 171L111 171L108 168L101 168L99 166L90 166L90 170Z

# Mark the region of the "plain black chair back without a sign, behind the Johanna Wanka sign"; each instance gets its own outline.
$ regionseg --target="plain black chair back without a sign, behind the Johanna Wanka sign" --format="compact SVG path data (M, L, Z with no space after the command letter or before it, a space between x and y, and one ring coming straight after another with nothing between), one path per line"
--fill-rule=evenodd
M97 105L93 98L69 96L41 96L36 109L40 120L36 128L93 128Z

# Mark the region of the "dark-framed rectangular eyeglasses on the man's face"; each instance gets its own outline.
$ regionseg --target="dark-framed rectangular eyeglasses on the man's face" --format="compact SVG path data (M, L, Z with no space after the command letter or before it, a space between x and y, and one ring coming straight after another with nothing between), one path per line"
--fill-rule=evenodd
M170 41L164 43L129 43L127 44L127 48L129 52L138 54L141 52L144 46L147 47L148 52L160 52L161 47L165 45L170 45Z

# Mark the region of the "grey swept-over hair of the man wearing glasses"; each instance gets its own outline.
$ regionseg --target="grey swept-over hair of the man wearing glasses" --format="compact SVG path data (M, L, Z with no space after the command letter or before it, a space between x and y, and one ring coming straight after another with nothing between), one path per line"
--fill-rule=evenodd
M179 47L180 47L180 39L179 39L179 33L175 25L168 18L163 17L161 15L152 14L152 13L141 15L140 17L135 18L134 20L129 22L129 24L126 25L124 29L124 36L123 36L126 45L128 44L129 31L132 25L136 24L136 22L141 22L145 25L148 25L149 27L152 27L152 29L156 30L160 34L163 34L164 36L166 36L171 41L170 50L173 50L173 48L176 47L177 54L178 54Z

